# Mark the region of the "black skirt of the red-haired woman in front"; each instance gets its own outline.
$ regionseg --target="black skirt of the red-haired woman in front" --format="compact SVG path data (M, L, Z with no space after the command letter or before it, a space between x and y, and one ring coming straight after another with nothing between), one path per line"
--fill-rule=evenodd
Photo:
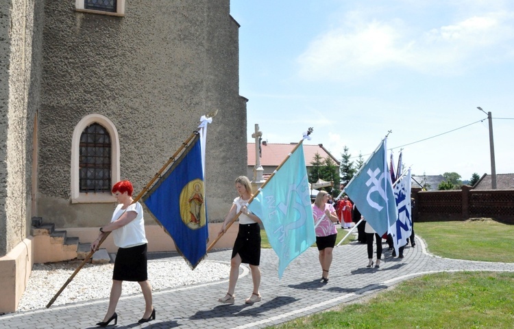
M114 261L112 280L136 282L148 280L147 260L147 244L119 248Z

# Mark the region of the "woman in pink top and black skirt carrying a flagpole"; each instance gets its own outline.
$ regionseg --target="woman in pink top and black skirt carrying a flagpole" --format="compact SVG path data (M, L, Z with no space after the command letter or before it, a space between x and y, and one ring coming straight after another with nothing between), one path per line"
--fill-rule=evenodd
M338 220L334 207L327 203L327 201L328 193L320 191L313 204L316 245L319 250L319 263L323 270L321 280L325 283L328 282L328 270L332 263L332 250L336 244L337 228L334 222Z

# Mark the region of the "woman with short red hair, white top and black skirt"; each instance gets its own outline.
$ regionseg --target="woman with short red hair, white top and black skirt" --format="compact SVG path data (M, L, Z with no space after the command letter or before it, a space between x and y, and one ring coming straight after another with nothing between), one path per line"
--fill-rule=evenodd
M114 244L119 248L114 261L112 287L110 290L109 307L103 321L97 326L105 327L114 320L118 323L116 306L121 296L123 281L138 282L145 298L145 313L138 323L148 322L156 318L156 310L152 304L151 285L147 274L147 238L145 236L145 221L143 207L134 202L132 192L134 187L130 181L119 181L111 190L119 205L112 213L109 224L101 226L98 238L91 244L91 250L97 250L99 241L112 232Z

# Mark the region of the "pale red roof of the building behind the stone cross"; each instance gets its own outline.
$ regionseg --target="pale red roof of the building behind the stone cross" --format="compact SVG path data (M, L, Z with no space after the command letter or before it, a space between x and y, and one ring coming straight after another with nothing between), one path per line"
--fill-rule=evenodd
M248 151L248 166L255 166L255 143L247 143L246 146ZM260 166L279 166L280 163L286 159L287 155L291 153L295 146L296 144L262 144L260 146L262 150ZM323 159L331 157L332 160L336 163L336 166L340 165L339 160L330 154L326 148L323 148L323 144L304 144L305 164L307 167L312 166L310 163L314 160L316 153L319 153Z

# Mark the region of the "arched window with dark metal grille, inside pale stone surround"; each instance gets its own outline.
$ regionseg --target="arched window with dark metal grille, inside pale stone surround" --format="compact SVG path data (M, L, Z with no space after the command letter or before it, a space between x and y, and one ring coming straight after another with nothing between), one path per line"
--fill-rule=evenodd
M80 135L79 191L109 192L111 182L110 135L101 124L90 124Z

